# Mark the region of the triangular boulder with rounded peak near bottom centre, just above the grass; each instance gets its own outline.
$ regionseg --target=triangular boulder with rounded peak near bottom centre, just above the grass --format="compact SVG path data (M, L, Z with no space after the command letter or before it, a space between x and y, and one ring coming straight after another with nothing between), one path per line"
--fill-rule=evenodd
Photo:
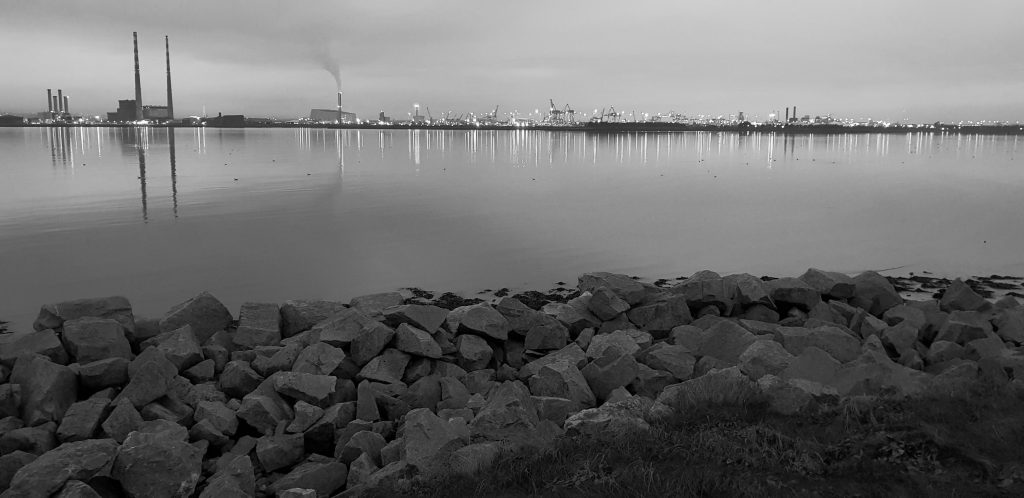
M412 412L410 412L412 413ZM487 402L470 423L474 434L501 437L537 427L540 419L529 389L519 381L492 389Z

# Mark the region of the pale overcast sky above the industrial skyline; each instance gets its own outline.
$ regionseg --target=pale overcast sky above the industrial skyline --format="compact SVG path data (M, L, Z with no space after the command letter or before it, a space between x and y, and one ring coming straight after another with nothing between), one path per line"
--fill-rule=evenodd
M1024 121L1018 0L0 0L0 113L544 112Z

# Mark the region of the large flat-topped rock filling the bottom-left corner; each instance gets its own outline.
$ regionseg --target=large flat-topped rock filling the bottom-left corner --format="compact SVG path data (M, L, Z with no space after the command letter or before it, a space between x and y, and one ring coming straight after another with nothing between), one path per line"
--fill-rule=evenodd
M118 444L113 440L65 443L23 466L0 496L49 497L69 480L88 481L101 472L117 453Z

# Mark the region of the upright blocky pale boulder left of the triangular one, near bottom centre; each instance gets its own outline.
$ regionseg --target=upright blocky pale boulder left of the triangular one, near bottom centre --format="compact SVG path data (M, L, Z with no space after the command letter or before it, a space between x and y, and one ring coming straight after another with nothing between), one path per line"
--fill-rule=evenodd
M443 468L447 455L469 444L469 430L465 422L444 421L418 408L406 415L403 441L406 461L429 475Z

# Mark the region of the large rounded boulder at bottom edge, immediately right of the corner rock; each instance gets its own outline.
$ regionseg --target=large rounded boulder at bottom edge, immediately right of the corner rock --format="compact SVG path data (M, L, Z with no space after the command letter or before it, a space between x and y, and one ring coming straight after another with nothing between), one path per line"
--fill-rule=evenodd
M111 476L132 498L190 496L202 475L203 451L169 434L132 432L121 445Z

